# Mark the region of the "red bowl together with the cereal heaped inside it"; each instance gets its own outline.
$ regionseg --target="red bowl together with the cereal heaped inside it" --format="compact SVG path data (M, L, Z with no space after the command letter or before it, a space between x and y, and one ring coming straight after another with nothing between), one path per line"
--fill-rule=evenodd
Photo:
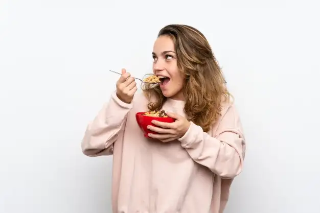
M175 119L172 117L168 117L166 112L164 110L161 111L149 111L149 112L138 112L135 114L136 122L138 123L138 126L144 133L145 137L149 137L148 134L158 134L157 132L151 131L147 128L147 126L156 126L152 124L152 120L156 120L159 122L166 122L166 123L173 123Z

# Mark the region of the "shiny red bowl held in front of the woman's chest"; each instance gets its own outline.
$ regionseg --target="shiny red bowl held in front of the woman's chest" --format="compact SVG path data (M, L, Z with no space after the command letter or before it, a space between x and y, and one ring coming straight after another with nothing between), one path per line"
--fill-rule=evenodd
M152 117L152 116L144 115L144 113L145 112L137 112L135 114L135 119L136 119L136 122L138 123L138 126L143 131L144 136L148 138L149 138L148 136L149 133L158 134L157 132L151 131L150 129L147 128L147 126L149 125L156 126L152 124L151 121L156 120L159 122L166 122L166 123L175 122L175 119L173 119L172 117Z

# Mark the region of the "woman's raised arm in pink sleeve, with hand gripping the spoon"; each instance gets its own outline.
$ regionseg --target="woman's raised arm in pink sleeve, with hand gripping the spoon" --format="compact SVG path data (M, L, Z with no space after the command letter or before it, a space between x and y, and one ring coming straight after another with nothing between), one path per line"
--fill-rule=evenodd
M127 114L133 106L134 93L138 88L134 78L125 69L121 73L117 81L117 92L111 94L110 101L87 126L81 144L82 152L87 156L111 155L113 143L125 127Z

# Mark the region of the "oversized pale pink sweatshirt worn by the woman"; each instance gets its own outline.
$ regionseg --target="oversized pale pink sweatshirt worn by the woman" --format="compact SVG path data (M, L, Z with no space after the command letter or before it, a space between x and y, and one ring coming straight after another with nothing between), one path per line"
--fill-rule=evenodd
M191 122L184 136L162 143L136 124L147 104L142 92L130 104L112 93L82 141L87 156L113 154L113 213L222 213L245 154L235 107L224 105L209 132ZM168 99L163 109L186 116L184 101Z

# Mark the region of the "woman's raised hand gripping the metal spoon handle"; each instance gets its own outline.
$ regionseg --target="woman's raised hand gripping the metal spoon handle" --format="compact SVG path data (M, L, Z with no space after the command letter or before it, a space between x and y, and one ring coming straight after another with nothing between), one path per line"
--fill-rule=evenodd
M138 90L134 78L130 77L130 73L126 69L121 70L121 77L117 81L117 96L124 103L131 103L134 93Z

